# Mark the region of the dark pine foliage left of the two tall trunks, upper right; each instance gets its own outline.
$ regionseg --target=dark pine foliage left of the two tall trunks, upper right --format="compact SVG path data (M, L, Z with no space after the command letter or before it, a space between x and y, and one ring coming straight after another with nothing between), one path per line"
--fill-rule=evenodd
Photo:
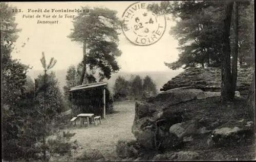
M221 9L208 1L161 2L152 6L158 14L172 14L176 26L169 32L179 41L179 60L165 65L172 69L200 64L220 66L219 22Z

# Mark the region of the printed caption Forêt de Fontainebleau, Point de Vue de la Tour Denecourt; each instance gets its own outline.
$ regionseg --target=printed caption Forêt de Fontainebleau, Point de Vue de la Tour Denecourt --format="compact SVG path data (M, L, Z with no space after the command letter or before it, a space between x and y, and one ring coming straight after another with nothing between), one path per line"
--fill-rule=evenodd
M24 13L21 9L13 9L13 12ZM37 24L59 24L60 19L73 19L77 13L86 12L88 9L27 9L22 14L23 19L35 19Z

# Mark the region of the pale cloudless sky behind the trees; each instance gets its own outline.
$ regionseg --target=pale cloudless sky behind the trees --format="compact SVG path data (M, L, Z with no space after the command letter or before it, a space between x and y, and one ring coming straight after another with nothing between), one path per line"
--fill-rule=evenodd
M67 69L71 65L77 65L82 60L82 46L79 43L72 42L67 36L73 28L72 18L59 18L58 24L37 24L37 14L46 13L28 13L28 9L79 9L81 6L106 7L116 10L117 16L121 18L123 12L134 2L12 2L23 12L16 15L17 28L22 29L18 34L16 42L17 50L14 50L12 56L20 59L24 64L33 67L33 70L42 70L40 58L42 51L45 52L46 60L51 57L57 60L54 70ZM152 2L151 2L152 3ZM32 11L31 10L31 11ZM49 13L49 15L59 13ZM65 13L61 13L65 14ZM69 13L68 13L69 14ZM70 15L76 15L72 13ZM34 15L34 18L26 18L28 15ZM41 18L40 20L44 20ZM50 20L50 19L49 19ZM122 55L117 58L120 65L120 71L123 72L143 72L143 71L166 71L170 70L164 65L164 62L174 62L178 59L178 41L169 35L170 27L175 23L166 20L166 30L162 38L153 45L136 46L129 42L121 33L119 36L119 49ZM27 40L29 38L29 40ZM22 47L23 43L26 43ZM17 52L18 51L18 52Z

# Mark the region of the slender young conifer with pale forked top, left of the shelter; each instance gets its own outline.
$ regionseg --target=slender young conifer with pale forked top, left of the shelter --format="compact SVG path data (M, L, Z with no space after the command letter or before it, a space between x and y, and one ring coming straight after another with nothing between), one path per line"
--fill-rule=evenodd
M38 102L36 106L36 110L39 115L41 115L41 123L42 123L42 151L43 151L43 159L46 160L46 136L49 135L49 124L52 123L52 119L57 113L61 112L61 109L58 105L58 100L54 100L55 97L60 97L58 92L58 88L56 89L56 78L54 78L54 73L48 75L47 72L56 64L56 60L54 58L50 59L49 64L46 63L45 53L42 52L42 57L40 59L42 68L44 68L44 75L38 76L38 79L35 80L35 100ZM52 91L53 90L53 91Z

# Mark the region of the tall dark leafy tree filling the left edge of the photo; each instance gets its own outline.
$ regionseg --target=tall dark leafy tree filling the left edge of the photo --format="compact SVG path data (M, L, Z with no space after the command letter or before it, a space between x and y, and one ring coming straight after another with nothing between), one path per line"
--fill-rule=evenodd
M25 86L29 66L11 57L20 31L16 28L16 13L12 9L15 7L7 3L0 4L2 140L3 159L7 160L25 156L36 142L34 131L26 122L33 114L31 93L26 93Z

